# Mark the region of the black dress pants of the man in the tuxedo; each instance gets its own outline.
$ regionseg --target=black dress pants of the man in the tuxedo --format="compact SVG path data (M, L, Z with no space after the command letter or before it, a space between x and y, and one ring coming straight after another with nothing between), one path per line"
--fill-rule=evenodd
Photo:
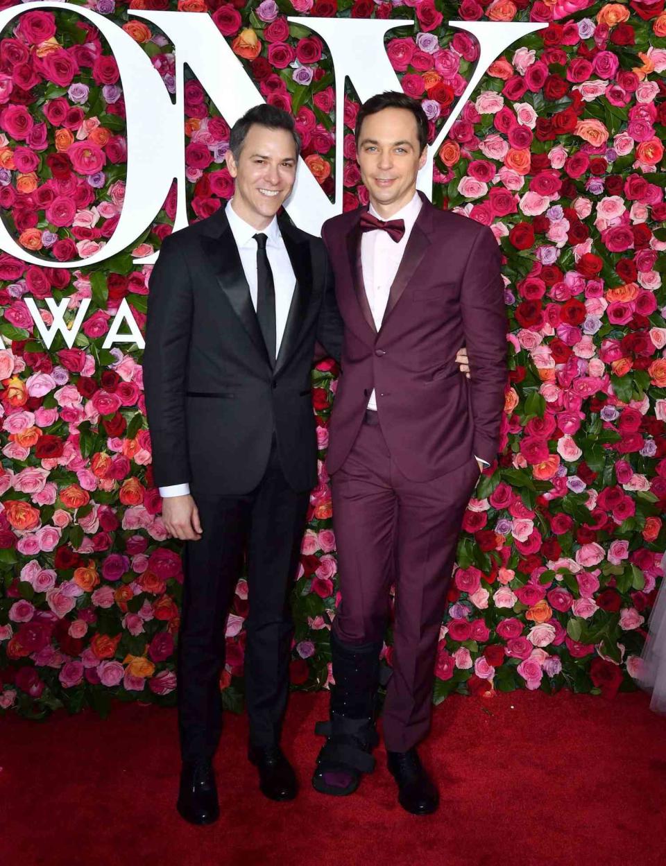
M224 630L247 556L245 694L250 742L278 743L287 706L293 625L288 593L298 565L309 493L282 474L275 436L260 484L236 496L193 493L202 537L184 546L178 638L178 726L184 760L211 759L222 729Z

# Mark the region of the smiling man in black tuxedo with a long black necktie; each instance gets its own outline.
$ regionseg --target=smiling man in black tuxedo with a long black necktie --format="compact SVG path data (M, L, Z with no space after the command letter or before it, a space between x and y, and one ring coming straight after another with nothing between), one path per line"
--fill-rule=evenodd
M276 216L294 186L294 120L268 105L233 127L234 197L165 238L152 272L145 401L165 527L184 540L178 643L183 769L178 811L219 814L224 622L247 555L249 759L262 792L294 798L281 752L292 636L288 589L317 479L315 341L339 358L342 326L320 238Z

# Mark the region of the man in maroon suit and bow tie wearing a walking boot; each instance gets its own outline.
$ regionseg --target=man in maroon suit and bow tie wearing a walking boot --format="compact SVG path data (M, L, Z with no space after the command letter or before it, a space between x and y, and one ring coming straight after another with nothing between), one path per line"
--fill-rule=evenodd
M416 745L430 727L462 515L498 448L507 331L495 236L417 193L427 135L417 100L385 93L365 102L356 145L370 206L322 231L345 324L327 459L342 602L313 784L344 795L372 771L378 657L395 584L383 727L399 802L415 814L438 803ZM470 379L456 366L463 342Z

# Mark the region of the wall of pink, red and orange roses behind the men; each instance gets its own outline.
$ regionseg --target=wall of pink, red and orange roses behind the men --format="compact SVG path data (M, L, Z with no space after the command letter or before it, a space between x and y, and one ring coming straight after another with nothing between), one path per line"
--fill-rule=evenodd
M14 3L0 2L0 8ZM263 97L294 113L310 171L333 194L333 68L308 16L394 18L385 48L431 140L478 57L449 19L538 21L484 74L435 158L433 200L493 229L504 255L510 382L501 455L465 515L436 663L451 691L631 688L666 532L664 0L89 0L175 92L173 47L133 10L212 16ZM301 16L301 23L287 16ZM405 21L405 19L407 19ZM416 27L411 22L416 22ZM365 203L345 104L344 207ZM185 86L191 220L233 194L229 126ZM158 142L156 142L158 144ZM75 3L0 35L0 213L43 266L0 254L0 708L106 712L112 697L171 703L182 570L153 487L136 344L101 348L123 299L143 326L150 266L175 189L133 249L90 268L126 177L125 104L107 43ZM70 349L46 350L25 297L92 299ZM320 481L294 583L292 680L329 678L335 540L323 460L337 368L313 372ZM241 700L241 580L221 687ZM385 664L391 664L391 632Z

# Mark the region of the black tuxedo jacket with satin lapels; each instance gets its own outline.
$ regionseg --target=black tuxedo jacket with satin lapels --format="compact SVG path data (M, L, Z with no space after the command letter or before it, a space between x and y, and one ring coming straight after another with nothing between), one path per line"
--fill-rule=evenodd
M223 208L165 238L152 270L143 358L158 487L244 494L268 464L275 433L294 490L313 488L310 391L315 340L339 358L342 324L323 242L278 217L296 285L272 368Z

